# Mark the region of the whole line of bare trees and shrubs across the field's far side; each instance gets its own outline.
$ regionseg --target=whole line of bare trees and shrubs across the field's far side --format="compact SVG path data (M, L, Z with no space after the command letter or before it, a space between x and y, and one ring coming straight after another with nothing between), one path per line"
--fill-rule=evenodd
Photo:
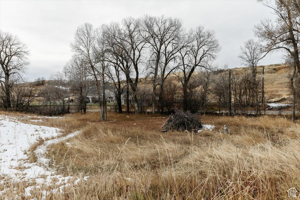
M214 60L220 45L213 30L201 25L187 30L181 19L144 15L98 28L90 23L80 25L70 43L72 58L61 72L52 75L56 85L48 88L44 96L48 96L49 102L52 98L53 104L54 98L60 99L63 112L67 112L66 105L71 95L75 95L78 108L84 113L86 96L92 92L100 105L101 120L107 119L107 98L111 96L108 90L116 98L119 113L123 112L122 97L125 97L127 113L131 103L138 114L146 112L148 107L152 107L153 113L172 112L175 108L205 111L211 102L231 112L233 102L236 112L246 113L254 108L259 115L265 94L257 66L268 53L283 51L285 63L290 66L287 76L295 120L300 75L299 2L277 0L274 5L271 1L262 4L277 15L277 20L262 20L254 27L258 40L247 40L241 46L238 57L247 67L242 75L232 73L229 78L227 71L221 73L217 69ZM28 55L27 46L18 37L1 31L0 82L4 109L11 109L10 89L26 70Z

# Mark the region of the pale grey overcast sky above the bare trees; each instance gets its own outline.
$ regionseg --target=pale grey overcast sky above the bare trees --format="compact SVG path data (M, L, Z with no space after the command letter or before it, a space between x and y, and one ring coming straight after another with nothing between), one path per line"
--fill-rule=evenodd
M203 25L214 29L222 50L216 62L240 67L239 48L253 39L253 26L274 19L271 10L256 0L234 1L3 1L0 28L18 35L30 49L26 77L49 78L71 58L70 42L80 24L94 27L127 16L165 15L183 19L187 29ZM260 64L280 63L280 54L267 56Z

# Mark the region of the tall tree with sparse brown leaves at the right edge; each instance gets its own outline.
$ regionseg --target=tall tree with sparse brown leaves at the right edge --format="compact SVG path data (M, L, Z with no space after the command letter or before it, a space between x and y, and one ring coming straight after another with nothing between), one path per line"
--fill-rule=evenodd
M276 50L285 51L293 60L295 69L300 75L300 12L299 3L294 0L276 0L275 5L269 1L262 1L263 5L273 10L277 15L275 22L263 20L255 26L255 34L264 43L265 52ZM294 77L290 77L290 85L294 84ZM295 95L293 95L295 99ZM293 100L292 121L295 121L295 100Z

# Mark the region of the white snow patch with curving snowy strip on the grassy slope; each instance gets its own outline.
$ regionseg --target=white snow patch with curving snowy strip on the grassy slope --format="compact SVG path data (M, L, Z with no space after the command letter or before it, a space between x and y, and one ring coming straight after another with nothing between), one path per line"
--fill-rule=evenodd
M78 183L81 179L57 175L54 169L48 167L47 147L78 134L75 132L56 138L61 135L60 132L61 130L57 128L25 124L17 121L14 117L0 116L0 184L5 184L7 181L28 181L31 186L25 188L25 192L27 196L30 196L30 190L33 187L38 188L51 184L65 187L68 179L74 181L75 184ZM37 139L46 138L50 139L38 146L34 152L38 163L29 163L27 151L30 145ZM59 190L59 187L56 188L56 191ZM3 193L5 190L0 191L0 195Z

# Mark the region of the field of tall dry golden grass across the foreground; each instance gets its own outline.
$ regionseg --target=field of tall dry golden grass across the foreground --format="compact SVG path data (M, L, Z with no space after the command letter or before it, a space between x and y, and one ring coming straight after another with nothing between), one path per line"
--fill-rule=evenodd
M38 122L82 130L71 146L50 146L48 156L58 173L89 178L60 193L36 188L26 198L47 191L46 199L285 199L286 190L300 189L300 126L287 118L206 115L201 120L216 126L212 132L161 133L167 118L130 116L109 114L117 121L101 124L95 112ZM25 198L26 183L12 187L17 192L6 197Z

